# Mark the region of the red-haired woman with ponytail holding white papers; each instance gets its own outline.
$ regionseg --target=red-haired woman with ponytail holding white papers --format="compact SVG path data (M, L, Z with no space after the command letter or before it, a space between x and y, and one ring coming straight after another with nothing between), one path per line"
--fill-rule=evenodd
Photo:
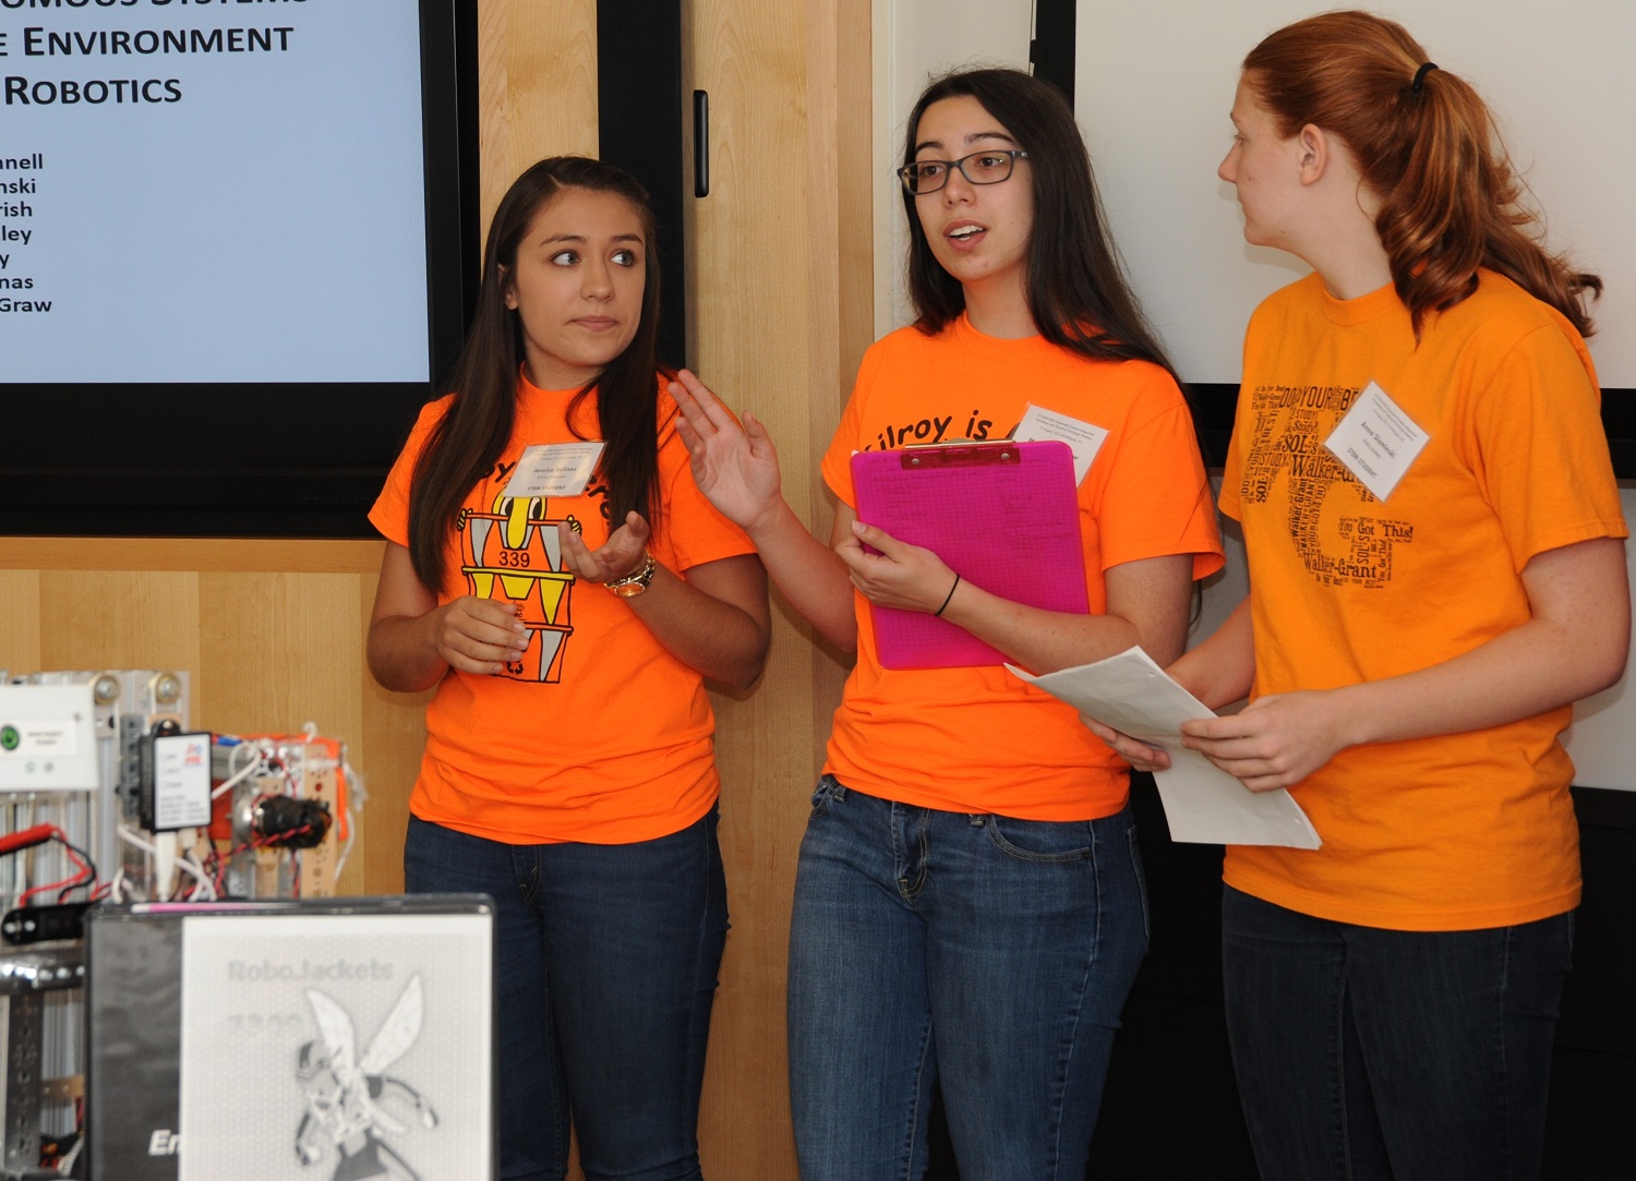
M1229 847L1227 1022L1266 1178L1538 1176L1579 905L1575 698L1625 667L1584 337L1477 93L1361 11L1243 62L1220 178L1312 275L1250 321L1220 505L1250 597L1184 744L1322 849ZM1099 730L1132 762L1163 752Z

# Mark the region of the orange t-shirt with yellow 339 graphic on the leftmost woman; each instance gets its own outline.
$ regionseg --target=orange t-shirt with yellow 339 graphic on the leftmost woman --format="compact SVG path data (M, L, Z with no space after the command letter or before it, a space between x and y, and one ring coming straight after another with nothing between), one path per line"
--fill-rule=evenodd
M476 594L524 608L524 659L497 676L448 672L425 712L425 756L409 810L506 844L649 841L687 828L715 803L715 721L702 677L671 656L630 607L561 568L556 522L607 540L605 487L507 501L522 450L599 438L596 394L564 412L573 391L517 386L517 424L496 469L465 501L447 546L438 602ZM430 402L398 456L370 520L409 541L409 479L450 399ZM699 492L676 435L676 402L659 393L659 502L649 550L682 574L754 553L749 538Z

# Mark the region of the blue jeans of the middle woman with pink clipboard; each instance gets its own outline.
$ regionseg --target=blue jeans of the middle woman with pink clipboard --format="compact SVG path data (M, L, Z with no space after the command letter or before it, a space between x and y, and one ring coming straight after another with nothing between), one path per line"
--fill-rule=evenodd
M960 1176L1081 1181L1147 952L1130 810L934 811L825 775L790 929L803 1181L913 1181L941 1086Z

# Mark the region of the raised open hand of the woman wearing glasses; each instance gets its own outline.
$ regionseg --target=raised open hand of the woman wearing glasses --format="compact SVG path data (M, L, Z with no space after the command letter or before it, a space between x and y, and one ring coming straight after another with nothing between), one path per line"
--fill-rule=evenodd
M739 424L703 381L682 370L671 383L676 422L692 458L694 483L721 515L754 535L779 504L779 451L749 412Z

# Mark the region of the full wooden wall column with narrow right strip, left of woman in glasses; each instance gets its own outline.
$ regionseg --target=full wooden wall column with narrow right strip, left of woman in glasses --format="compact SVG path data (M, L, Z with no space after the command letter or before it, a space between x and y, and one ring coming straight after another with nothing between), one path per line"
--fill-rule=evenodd
M779 447L784 492L828 537L818 460L874 319L867 3L685 7L687 85L710 93L712 190L692 208L700 376ZM795 1178L784 972L795 862L846 667L787 608L762 684L717 697L733 932L700 1117L705 1173Z

